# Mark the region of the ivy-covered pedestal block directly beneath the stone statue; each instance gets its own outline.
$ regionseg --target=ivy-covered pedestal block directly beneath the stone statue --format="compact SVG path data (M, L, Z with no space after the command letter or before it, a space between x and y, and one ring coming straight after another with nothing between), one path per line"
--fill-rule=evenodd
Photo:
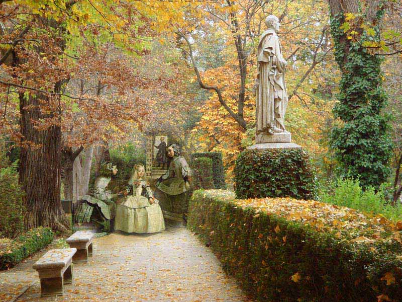
M301 148L245 150L236 160L235 181L237 198L317 196L316 178Z

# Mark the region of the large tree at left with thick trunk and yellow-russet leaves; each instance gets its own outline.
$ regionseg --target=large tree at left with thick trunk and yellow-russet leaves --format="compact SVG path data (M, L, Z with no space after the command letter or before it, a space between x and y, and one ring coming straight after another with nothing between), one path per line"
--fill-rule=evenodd
M79 60L80 55L92 58L86 51L89 48L81 52L78 45L71 47L77 37L81 41L90 41L91 37L109 39L138 55L144 50L139 32L146 33L143 27L146 18L130 3L121 3L118 10L114 5L109 1L73 0L0 3L0 22L7 33L0 41L5 48L0 57L3 67L0 88L18 95L20 133L11 134L23 146L20 182L27 193L27 228L47 225L63 230L66 223L60 203L61 129L65 111L76 111L80 102L82 107L78 110L85 108L92 115L101 112L108 115L113 111L130 116L128 119L133 122L136 119L128 109L135 106L129 105L127 99L113 103L107 98L65 93L68 81L79 73L78 62L83 62ZM93 43L92 46L96 48ZM99 70L101 66L91 65L92 69L96 67ZM119 78L130 74L134 77L122 67L116 64L104 72L105 83L113 86L117 95L124 94L126 87ZM138 81L132 81L132 86L136 84Z

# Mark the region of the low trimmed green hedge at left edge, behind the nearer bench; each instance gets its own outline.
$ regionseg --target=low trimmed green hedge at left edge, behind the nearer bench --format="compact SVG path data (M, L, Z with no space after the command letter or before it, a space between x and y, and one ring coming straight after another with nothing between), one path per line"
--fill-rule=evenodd
M8 243L0 242L0 270L20 263L31 254L52 242L54 234L50 228L32 229Z

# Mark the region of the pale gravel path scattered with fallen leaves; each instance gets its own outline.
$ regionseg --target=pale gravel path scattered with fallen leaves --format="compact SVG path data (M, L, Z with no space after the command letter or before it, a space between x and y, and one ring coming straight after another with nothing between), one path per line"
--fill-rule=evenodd
M184 228L94 239L94 257L74 265L75 286L65 285L57 298L40 298L32 264L43 253L0 272L0 301L12 301L35 281L17 301L251 301L211 250Z

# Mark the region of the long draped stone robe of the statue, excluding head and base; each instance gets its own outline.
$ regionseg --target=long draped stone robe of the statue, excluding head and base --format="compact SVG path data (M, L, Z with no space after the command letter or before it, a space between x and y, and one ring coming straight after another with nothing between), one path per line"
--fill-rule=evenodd
M268 29L262 34L257 58L257 133L267 132L274 126L285 130L283 118L288 102L284 79L285 60L273 29Z

